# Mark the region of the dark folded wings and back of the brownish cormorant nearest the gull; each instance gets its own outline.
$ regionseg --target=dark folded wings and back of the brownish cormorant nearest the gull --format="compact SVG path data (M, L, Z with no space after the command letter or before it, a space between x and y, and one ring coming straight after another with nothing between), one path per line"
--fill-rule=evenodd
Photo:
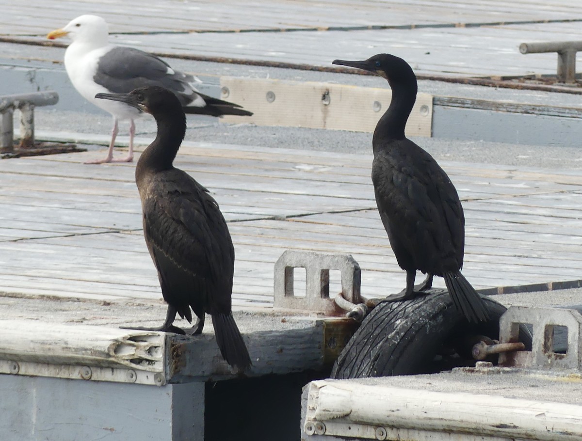
M174 170L172 178L143 205L144 236L164 298L181 315L187 305L198 316L230 312L235 252L226 221L189 175Z

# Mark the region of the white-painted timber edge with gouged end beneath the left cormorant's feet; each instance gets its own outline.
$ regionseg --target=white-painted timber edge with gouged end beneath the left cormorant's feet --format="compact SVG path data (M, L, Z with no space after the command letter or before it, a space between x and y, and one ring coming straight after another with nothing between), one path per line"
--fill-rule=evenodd
M3 320L0 373L164 385L166 335L132 329Z

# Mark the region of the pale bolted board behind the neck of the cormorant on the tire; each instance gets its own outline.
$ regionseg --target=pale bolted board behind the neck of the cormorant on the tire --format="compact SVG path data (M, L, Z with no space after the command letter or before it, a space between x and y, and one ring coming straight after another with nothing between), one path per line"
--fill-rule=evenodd
M381 80L381 79L378 79ZM385 88L346 86L310 81L221 77L223 99L254 112L244 122L258 126L374 131L390 104ZM225 94L228 88L228 94ZM240 116L225 116L240 123ZM407 136L431 136L432 95L419 93L406 125Z

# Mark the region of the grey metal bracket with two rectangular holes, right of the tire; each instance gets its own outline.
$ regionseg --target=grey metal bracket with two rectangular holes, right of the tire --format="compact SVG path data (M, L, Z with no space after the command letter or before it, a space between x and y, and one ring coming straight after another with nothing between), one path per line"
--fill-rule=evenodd
M576 310L512 306L499 321L499 342L519 341L519 325L533 326L531 351L499 354L504 367L582 370L582 315ZM567 347L555 347L556 332L566 332Z

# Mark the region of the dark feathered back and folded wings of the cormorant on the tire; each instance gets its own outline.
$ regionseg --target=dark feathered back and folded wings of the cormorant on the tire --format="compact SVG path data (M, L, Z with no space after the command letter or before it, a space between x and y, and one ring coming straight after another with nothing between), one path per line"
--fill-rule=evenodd
M437 275L443 265L458 269L464 219L455 187L427 152L410 140L395 142L407 145L376 155L372 181L396 258L405 269Z

